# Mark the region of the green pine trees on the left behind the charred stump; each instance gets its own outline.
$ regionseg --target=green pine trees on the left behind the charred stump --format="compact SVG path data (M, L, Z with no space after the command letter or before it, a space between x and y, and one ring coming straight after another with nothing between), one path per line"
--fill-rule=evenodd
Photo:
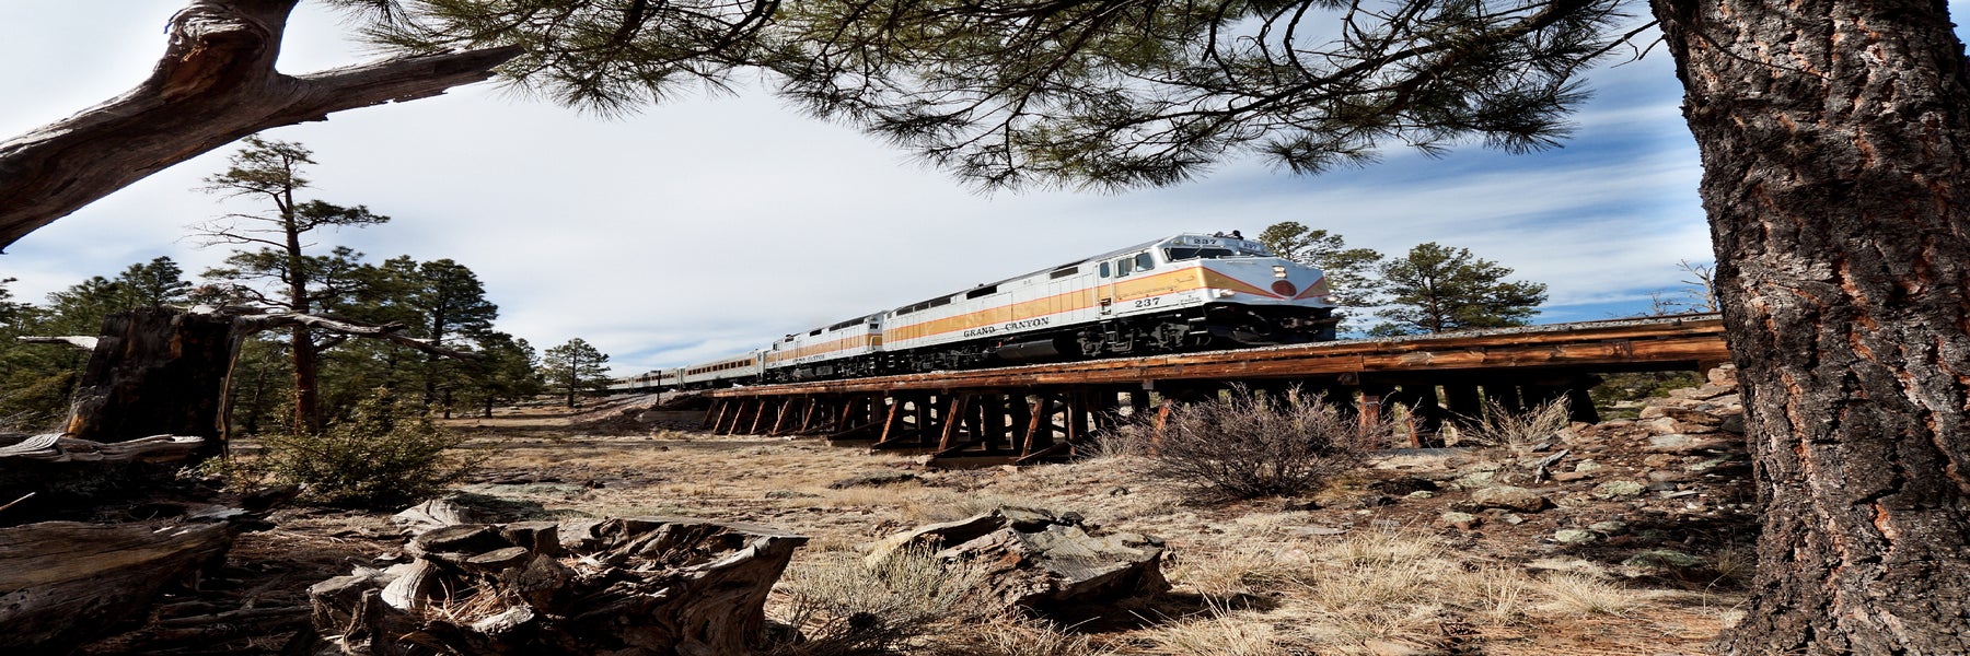
M256 199L260 211L193 229L205 244L232 246L201 280L187 280L165 256L77 282L43 303L18 299L8 288L14 280L0 280L0 427L53 427L89 361L79 349L24 345L16 337L93 337L106 315L136 307L244 305L390 325L471 357L311 327L258 333L240 347L229 390L230 426L242 433L319 433L349 420L378 388L426 414L451 416L491 414L496 404L548 392L573 406L607 382L609 357L581 339L548 349L544 362L526 339L498 331L498 305L465 264L408 254L368 262L353 248L317 244L311 232L319 229L372 227L388 217L301 199L309 187L303 167L311 164L301 144L248 138L227 171L205 179L207 191Z

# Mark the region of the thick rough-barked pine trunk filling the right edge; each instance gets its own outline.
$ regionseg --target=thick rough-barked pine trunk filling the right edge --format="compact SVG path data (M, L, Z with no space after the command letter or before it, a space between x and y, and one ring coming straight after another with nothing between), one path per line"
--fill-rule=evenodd
M1970 77L1942 2L1655 0L1765 528L1732 654L1970 652Z

